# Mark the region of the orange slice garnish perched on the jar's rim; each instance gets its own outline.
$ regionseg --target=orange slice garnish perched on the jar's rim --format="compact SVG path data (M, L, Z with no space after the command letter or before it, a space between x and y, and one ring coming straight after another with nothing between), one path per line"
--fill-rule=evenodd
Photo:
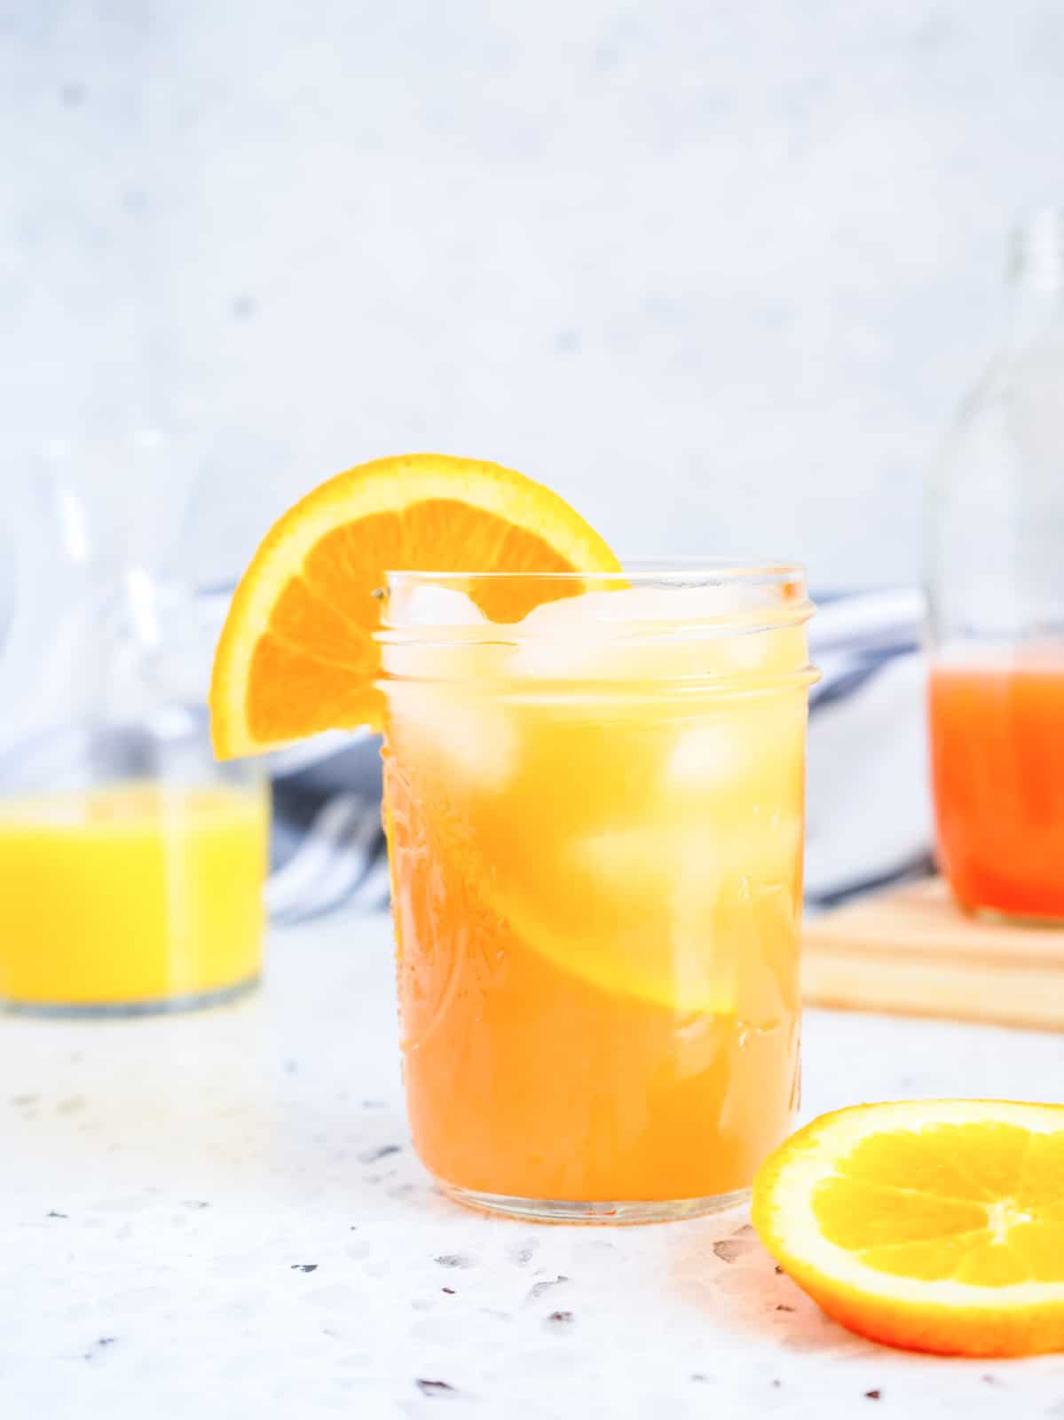
M273 525L236 589L210 684L219 758L379 727L374 633L389 571L614 572L618 562L564 498L499 464L408 454L348 469ZM563 577L551 595L571 591ZM482 611L519 621L544 595L503 581L480 595Z

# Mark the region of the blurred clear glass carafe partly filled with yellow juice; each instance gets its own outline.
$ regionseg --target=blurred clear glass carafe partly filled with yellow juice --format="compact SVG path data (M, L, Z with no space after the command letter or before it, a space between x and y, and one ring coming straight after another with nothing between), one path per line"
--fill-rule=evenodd
M0 621L0 1008L180 1010L260 973L267 797L210 750L213 626L173 575L186 479L152 432L53 446Z

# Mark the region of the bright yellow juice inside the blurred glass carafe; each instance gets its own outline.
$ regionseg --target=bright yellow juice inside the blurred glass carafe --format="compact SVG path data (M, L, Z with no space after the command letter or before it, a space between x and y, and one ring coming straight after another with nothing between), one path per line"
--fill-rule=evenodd
M148 1007L256 980L268 808L129 782L0 801L0 1003Z

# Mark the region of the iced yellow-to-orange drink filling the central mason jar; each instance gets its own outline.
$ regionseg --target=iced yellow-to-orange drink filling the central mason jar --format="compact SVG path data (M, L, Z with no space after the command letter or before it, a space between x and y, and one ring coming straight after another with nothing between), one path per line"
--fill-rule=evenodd
M433 694L389 687L385 753L423 1163L533 1200L749 1187L797 1095L804 690L682 711L638 689L565 706L482 692L440 703L450 720ZM449 760L455 717L479 747L509 730L509 777ZM669 787L692 727L766 753Z

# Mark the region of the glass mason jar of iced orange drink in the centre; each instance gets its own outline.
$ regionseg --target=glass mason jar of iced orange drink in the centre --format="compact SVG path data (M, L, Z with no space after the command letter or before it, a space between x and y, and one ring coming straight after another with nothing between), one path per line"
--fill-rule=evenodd
M450 1196L688 1217L791 1127L810 613L777 564L388 577L403 1075Z

